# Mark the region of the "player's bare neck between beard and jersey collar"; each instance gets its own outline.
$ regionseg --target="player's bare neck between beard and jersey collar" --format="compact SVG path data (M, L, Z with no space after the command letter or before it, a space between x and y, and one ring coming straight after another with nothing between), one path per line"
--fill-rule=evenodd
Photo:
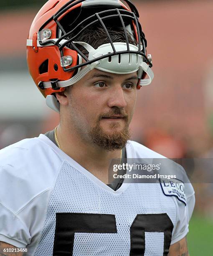
M106 151L92 143L85 143L79 134L63 125L57 128L57 137L64 153L104 183L108 182L109 165L112 159L120 160L121 150Z

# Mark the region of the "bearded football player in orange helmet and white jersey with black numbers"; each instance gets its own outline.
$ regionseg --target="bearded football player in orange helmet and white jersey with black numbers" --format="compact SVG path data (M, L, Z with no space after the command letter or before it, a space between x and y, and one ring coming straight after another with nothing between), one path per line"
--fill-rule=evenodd
M49 0L35 16L29 72L60 124L0 151L1 253L188 255L190 183L108 184L112 159L164 158L130 140L146 47L129 0Z

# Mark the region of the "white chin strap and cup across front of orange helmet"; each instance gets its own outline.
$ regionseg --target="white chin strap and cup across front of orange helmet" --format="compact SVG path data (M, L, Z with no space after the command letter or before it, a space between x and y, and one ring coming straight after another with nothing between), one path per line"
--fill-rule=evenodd
M80 44L89 52L89 60L99 58L109 53L113 53L111 44L103 44L97 49L94 49L92 46L86 44L85 42L74 43ZM126 43L118 42L113 43L113 45L118 52L127 51ZM58 81L57 87L67 87L75 84L94 68L112 74L131 74L137 72L138 79L141 79L142 73L146 72L149 78L141 79L139 85L145 86L150 84L152 82L152 79L154 78L154 73L152 72L152 69L150 69L147 63L143 61L143 57L141 55L134 53L138 51L138 46L129 44L129 49L133 53L114 55L89 64L85 68L79 69L78 73L74 77L71 77L71 79L65 81ZM81 58L80 61L82 61ZM45 89L52 87L51 82L43 82L43 86ZM59 113L59 102L54 95L48 95L46 97L46 105L52 110Z

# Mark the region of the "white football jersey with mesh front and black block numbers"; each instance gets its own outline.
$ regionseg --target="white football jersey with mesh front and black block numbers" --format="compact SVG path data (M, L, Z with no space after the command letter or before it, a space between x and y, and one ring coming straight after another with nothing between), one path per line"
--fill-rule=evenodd
M129 141L127 159L164 158ZM0 241L28 256L163 256L188 233L195 197L185 203L160 183L123 183L114 191L49 138L0 151Z

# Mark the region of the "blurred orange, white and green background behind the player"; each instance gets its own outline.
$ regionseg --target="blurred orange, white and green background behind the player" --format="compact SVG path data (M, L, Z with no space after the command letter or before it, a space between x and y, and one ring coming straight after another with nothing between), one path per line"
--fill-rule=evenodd
M138 92L132 139L169 158L213 158L213 1L132 2L140 13L155 73L153 83ZM45 133L59 121L45 105L26 63L28 31L44 3L0 1L0 148ZM200 172L205 176L212 169ZM193 184L190 256L213 255L211 182Z

